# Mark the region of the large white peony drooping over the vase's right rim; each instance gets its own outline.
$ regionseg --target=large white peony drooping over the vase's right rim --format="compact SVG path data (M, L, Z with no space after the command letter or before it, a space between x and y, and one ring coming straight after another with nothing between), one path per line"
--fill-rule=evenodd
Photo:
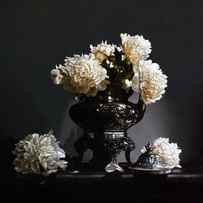
M140 84L137 85L137 77L133 79L133 89L141 91L141 96L146 104L160 100L167 87L167 76L164 75L157 63L151 60L141 61L139 64ZM139 89L138 89L139 87Z

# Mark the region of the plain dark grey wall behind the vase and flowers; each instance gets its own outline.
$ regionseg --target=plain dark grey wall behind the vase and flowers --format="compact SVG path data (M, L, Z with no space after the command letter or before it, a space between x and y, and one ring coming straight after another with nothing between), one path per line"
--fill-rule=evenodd
M170 137L183 149L182 163L203 154L203 5L201 1L18 0L1 2L0 159L10 173L14 143L53 128L68 151L75 125L68 117L72 96L55 87L49 72L65 56L87 53L89 44L119 34L142 34L151 59L169 77L166 95L150 105L130 130L137 149ZM74 138L75 139L75 138ZM123 160L121 156L121 160ZM4 175L3 175L4 176Z

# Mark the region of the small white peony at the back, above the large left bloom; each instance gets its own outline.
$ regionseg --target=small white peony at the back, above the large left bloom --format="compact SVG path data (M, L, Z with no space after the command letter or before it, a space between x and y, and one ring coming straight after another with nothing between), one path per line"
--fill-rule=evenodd
M95 58L99 60L99 62L102 62L107 57L114 55L115 47L113 44L107 44L107 41L102 41L96 47L90 45L90 50Z

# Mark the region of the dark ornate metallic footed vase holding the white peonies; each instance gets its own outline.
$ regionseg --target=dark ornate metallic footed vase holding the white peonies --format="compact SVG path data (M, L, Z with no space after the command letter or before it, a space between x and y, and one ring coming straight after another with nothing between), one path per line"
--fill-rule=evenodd
M96 97L81 97L70 108L71 119L84 129L84 136L75 144L82 156L89 148L93 151L90 168L104 169L107 172L123 169L117 163L117 155L125 151L129 164L130 152L135 149L127 130L139 122L146 106L139 97L137 104L128 101L132 92L121 88L99 92Z

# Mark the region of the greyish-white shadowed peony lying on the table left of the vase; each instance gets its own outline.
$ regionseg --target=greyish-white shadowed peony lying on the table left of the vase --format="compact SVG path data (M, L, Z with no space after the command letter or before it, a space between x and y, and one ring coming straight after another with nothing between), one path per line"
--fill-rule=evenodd
M30 134L16 144L14 154L17 172L49 175L58 169L65 169L65 152L59 147L53 132L39 135Z

